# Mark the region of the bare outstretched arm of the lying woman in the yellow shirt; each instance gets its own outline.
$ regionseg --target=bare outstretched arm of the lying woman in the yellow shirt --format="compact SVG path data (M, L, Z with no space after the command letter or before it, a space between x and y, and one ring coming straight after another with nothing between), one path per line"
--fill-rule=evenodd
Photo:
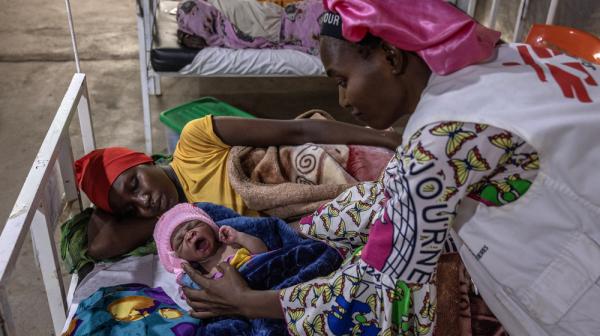
M332 120L246 119L213 117L213 129L231 146L268 147L277 145L354 144L396 149L401 136L395 131L381 131Z

